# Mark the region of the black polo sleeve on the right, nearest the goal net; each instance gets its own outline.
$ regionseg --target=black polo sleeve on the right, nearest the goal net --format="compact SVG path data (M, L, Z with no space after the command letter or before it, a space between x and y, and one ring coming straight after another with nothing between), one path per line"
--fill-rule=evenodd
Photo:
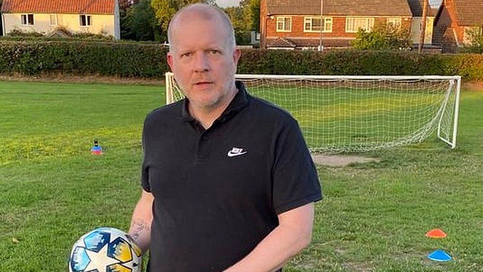
M315 164L294 119L280 130L274 156L273 205L277 215L322 199Z

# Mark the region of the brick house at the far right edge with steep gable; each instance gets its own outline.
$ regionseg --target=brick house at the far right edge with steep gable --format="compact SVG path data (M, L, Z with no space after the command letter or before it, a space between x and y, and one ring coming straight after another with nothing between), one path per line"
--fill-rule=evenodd
M483 0L443 0L435 18L435 44L443 53L470 43L468 31L483 31Z

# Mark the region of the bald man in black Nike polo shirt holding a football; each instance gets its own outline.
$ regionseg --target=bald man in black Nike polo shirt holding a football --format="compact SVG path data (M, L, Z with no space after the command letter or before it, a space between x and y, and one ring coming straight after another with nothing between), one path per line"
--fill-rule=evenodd
M240 50L223 11L187 6L168 37L186 99L145 119L129 233L152 272L279 270L310 243L321 199L298 124L235 82Z

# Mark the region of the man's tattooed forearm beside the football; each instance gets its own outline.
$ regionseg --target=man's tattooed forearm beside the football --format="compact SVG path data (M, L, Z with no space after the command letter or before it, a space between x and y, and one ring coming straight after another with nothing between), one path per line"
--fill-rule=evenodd
M143 190L141 198L138 204L136 204L136 208L134 208L131 227L129 228L129 235L134 239L143 253L149 248L149 241L151 239L153 200L153 195Z

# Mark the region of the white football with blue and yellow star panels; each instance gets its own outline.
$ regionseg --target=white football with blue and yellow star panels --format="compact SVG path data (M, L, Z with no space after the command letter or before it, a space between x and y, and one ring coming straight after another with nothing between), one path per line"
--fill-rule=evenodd
M141 272L142 252L124 231L97 228L72 247L70 272Z

